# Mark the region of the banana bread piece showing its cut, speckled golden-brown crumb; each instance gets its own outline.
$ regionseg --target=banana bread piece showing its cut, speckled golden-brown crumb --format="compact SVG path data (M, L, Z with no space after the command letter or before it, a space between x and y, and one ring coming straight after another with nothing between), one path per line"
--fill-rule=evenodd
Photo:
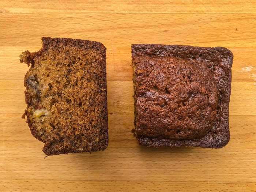
M24 85L32 135L46 155L108 146L106 48L99 42L42 38L42 49L20 55L31 65Z

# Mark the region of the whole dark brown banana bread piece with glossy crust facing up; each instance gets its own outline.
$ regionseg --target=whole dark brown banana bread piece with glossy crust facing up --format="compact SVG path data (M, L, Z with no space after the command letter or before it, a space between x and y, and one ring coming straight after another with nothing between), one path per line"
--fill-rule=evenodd
M230 50L135 44L132 63L140 144L221 148L229 142Z

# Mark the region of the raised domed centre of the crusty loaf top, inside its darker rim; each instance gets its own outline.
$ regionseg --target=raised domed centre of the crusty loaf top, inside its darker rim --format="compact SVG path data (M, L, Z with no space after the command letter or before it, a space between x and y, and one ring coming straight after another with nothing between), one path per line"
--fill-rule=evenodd
M205 64L174 57L142 56L134 61L139 63L135 68L138 135L195 139L210 131L218 93Z

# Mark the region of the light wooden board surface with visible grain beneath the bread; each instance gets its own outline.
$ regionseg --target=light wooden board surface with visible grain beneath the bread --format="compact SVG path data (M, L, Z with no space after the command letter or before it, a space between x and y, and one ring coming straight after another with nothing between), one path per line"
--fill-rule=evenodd
M19 63L41 37L107 47L109 147L44 158L21 118ZM234 54L231 140L222 149L139 146L133 138L131 44L224 46ZM256 3L155 0L0 1L0 191L256 191Z

